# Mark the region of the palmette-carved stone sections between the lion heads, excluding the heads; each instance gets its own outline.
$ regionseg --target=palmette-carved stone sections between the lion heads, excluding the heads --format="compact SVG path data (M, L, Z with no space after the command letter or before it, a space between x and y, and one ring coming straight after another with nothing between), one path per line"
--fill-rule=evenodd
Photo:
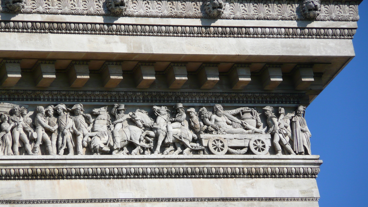
M219 19L235 20L308 20L301 13L302 0L224 0L224 13ZM4 2L4 1L3 1ZM360 1L321 1L321 11L317 21L358 21ZM153 18L210 18L204 10L203 0L127 0L125 17ZM11 13L3 5L0 13ZM27 0L26 6L16 13L22 14L64 14L64 15L113 15L102 1Z

